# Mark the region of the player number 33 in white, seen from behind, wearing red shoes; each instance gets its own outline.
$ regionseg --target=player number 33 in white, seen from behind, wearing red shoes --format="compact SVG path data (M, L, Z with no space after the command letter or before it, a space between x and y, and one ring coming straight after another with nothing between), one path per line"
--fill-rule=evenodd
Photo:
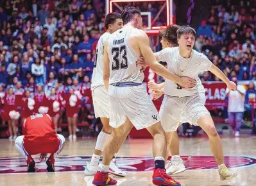
M136 67L136 58L144 56L149 67L157 74L179 83L182 87L194 87L195 80L178 78L160 65L149 47L148 35L142 30L141 12L134 7L126 7L121 13L124 27L112 33L104 47L103 80L110 99L110 126L114 129L103 151L101 171L94 176L94 185L115 185L117 182L108 176L108 165L118 148L122 137L126 137L132 125L140 130L147 128L154 138L153 156L155 185L180 185L166 174L164 156L166 137L158 112L142 85L141 72ZM186 83L185 83L186 82Z

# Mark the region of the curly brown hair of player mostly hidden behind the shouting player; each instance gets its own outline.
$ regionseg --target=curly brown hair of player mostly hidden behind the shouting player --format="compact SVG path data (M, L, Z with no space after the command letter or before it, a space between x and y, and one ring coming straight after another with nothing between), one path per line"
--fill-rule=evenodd
M160 28L159 35L160 37L165 38L169 43L178 46L178 40L177 40L177 30L180 28L180 26L173 24L169 25L164 28Z

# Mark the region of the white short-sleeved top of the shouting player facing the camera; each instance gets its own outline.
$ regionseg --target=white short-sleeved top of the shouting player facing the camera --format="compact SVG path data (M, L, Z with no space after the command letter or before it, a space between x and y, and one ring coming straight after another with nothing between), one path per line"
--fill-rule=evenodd
M189 77L198 80L201 71L209 71L212 62L207 56L192 49L189 59L180 56L178 47L167 47L157 53L158 58L167 63L167 69L179 77ZM198 84L191 89L184 89L170 80L164 83L164 92L169 96L193 96L198 92Z

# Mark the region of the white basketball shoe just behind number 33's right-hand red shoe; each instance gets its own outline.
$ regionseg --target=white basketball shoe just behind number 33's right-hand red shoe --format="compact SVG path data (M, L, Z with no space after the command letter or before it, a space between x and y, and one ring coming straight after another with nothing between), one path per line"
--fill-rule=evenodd
M185 165L182 159L179 160L171 160L169 164L166 165L166 173L167 174L178 174L182 173L186 170Z

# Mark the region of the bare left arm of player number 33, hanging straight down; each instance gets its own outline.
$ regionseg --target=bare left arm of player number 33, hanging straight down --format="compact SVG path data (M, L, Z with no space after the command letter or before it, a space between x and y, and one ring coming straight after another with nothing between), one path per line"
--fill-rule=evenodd
M109 67L110 60L108 58L108 42L105 42L104 45L104 55L103 55L103 81L105 89L108 91L108 83L110 77L110 67Z

